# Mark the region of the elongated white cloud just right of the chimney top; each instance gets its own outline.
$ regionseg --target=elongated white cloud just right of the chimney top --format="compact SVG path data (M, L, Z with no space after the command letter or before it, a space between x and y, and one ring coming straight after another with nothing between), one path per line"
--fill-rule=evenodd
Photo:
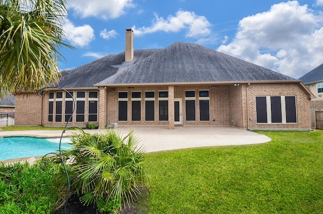
M197 16L194 12L179 10L176 16L169 16L166 20L163 17L155 18L150 27L133 27L136 35L144 35L157 31L179 32L187 29L186 36L191 38L200 38L210 35L211 24L204 16Z

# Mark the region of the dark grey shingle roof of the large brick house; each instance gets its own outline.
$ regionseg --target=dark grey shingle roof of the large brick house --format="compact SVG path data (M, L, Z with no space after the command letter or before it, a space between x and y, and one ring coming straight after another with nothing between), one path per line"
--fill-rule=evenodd
M183 42L175 42L163 49L134 50L132 62L125 62L125 52L122 52L68 72L63 72L61 87L295 80L219 51Z

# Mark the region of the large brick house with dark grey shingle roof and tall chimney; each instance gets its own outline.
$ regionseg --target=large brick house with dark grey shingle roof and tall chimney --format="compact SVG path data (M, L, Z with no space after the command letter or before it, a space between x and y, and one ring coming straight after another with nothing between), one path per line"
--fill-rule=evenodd
M310 130L313 94L297 79L194 43L126 50L62 71L58 84L76 102L71 126L228 125ZM16 96L16 124L64 126L73 98L62 90Z

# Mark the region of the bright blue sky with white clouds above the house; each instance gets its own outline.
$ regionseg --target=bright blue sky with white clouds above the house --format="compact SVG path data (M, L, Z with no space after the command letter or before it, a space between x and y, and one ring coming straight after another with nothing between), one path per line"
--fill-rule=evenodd
M66 61L73 69L125 50L194 42L299 78L323 63L323 0L67 0Z

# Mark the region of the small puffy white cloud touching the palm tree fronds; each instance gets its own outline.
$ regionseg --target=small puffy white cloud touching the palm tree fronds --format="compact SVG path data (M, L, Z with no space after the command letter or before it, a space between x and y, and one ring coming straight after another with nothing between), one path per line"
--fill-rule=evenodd
M69 20L65 20L64 32L66 39L75 46L87 46L94 39L94 30L90 25L74 26Z

